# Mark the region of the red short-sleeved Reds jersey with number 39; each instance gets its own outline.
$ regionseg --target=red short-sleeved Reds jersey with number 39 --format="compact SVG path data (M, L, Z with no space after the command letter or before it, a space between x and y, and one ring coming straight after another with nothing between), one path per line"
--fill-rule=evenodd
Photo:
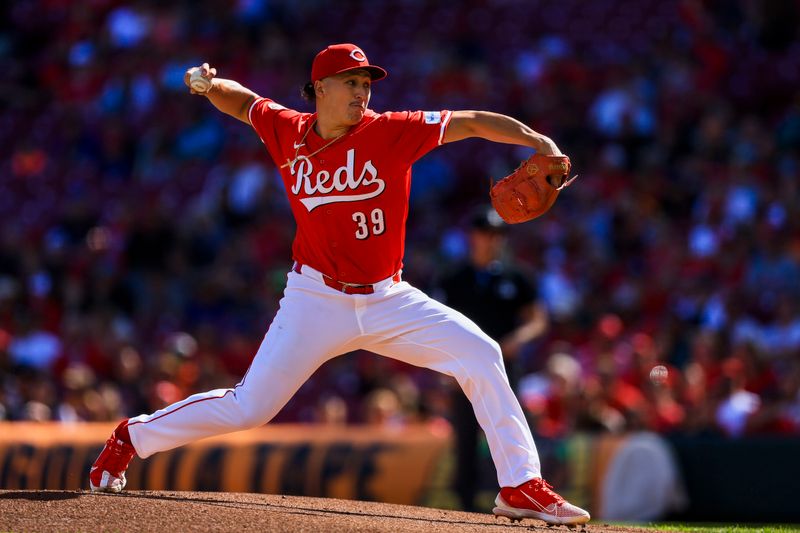
M442 144L450 111L368 109L335 141L314 131L316 113L268 98L248 117L280 168L297 222L295 261L362 284L402 268L411 165Z

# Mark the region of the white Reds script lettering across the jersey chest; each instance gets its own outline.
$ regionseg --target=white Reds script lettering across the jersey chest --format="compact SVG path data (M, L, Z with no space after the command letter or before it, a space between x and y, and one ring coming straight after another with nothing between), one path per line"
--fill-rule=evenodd
M355 177L356 150L347 151L347 162L337 168L333 175L327 170L320 170L314 175L314 164L306 156L299 156L289 167L297 181L292 185L292 193L297 195L302 189L307 198L300 202L311 212L315 207L336 202L357 202L375 198L383 192L386 184L378 177L378 170L368 160L361 168L358 178ZM312 177L313 176L313 177ZM371 189L371 190L367 190ZM331 195L332 192L360 190L358 194Z

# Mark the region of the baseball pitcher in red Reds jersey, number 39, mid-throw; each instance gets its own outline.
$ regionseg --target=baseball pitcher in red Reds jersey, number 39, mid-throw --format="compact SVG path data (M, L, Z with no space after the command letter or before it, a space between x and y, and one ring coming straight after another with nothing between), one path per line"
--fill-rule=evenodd
M371 65L357 46L329 46L314 59L304 88L316 112L302 113L217 78L207 63L186 72L190 91L250 125L280 169L297 223L294 264L280 308L242 380L122 421L91 468L93 491L121 491L134 454L144 459L265 424L322 363L363 349L457 380L497 469L496 515L550 524L589 520L542 479L498 344L464 315L402 280L411 165L427 152L480 137L549 157L497 184L502 189L493 203L512 222L552 205L569 181L569 159L546 136L496 113L377 113L369 108L370 94L384 77L386 71ZM543 174L556 179L533 181Z

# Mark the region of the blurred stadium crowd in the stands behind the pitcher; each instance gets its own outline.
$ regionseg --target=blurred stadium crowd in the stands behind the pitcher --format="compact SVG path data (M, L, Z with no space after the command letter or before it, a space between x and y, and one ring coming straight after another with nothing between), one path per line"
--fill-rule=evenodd
M293 224L257 136L182 75L208 61L307 109L314 54L349 41L389 70L373 109L511 114L581 174L509 233L551 315L517 362L537 433L800 433L799 11L3 3L0 420L116 420L238 381L277 309ZM415 166L406 279L430 290L463 260L467 213L523 156L466 141ZM348 354L277 420L442 420L448 386Z

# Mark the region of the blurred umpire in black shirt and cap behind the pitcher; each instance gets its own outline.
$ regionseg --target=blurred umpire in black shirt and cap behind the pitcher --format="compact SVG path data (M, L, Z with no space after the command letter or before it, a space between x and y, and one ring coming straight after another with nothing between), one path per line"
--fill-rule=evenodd
M545 333L549 319L534 285L503 260L506 231L494 209L476 210L470 223L469 258L440 280L434 294L500 344L511 386L516 389L513 362L523 345ZM457 461L454 489L462 508L473 511L480 481L480 427L472 405L458 387L451 402Z

